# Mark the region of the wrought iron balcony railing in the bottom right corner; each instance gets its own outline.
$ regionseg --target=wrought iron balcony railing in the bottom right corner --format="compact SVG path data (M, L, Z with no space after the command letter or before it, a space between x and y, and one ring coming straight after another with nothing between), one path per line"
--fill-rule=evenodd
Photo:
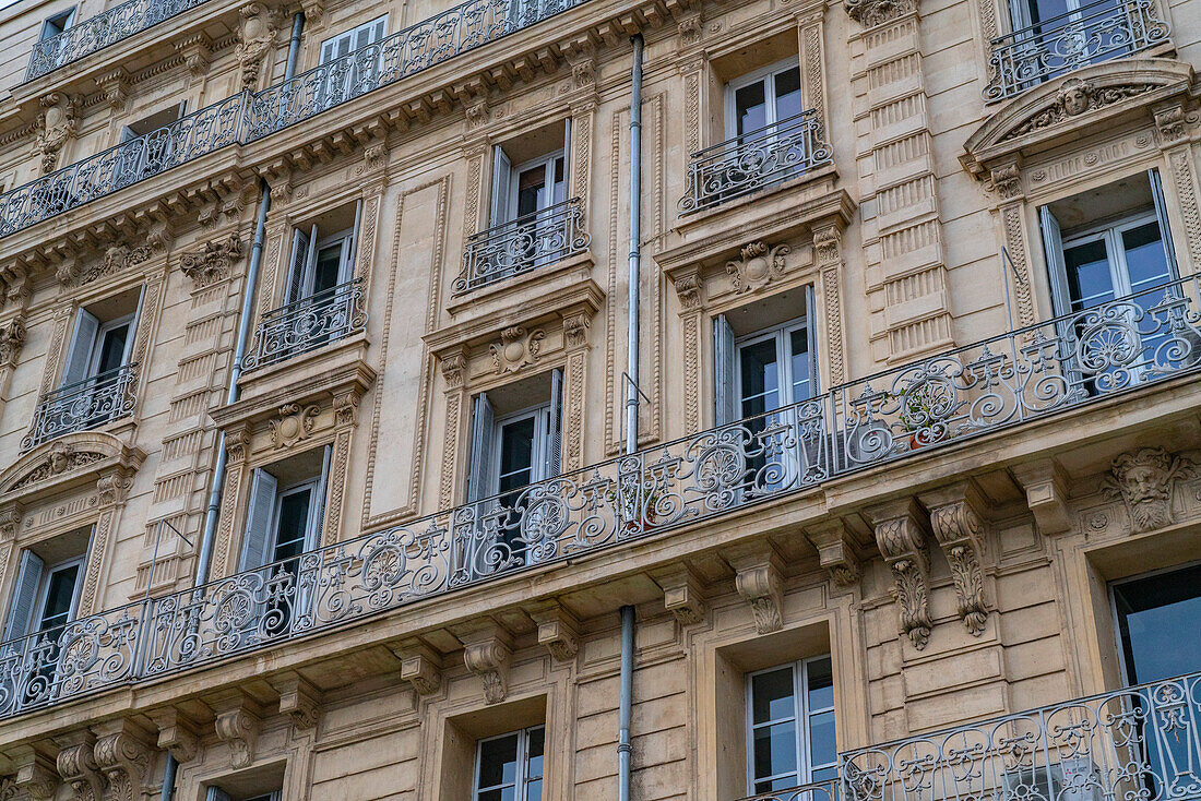
M1201 673L842 754L848 801L1201 799Z

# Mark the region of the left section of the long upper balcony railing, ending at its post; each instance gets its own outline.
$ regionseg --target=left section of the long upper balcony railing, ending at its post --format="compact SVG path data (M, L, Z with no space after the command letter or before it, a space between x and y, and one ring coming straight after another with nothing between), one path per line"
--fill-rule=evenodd
M245 101L234 95L0 195L0 237L233 144Z

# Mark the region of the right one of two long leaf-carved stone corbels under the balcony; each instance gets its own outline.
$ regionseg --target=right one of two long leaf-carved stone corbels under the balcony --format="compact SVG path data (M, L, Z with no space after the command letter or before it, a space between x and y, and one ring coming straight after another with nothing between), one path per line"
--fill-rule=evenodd
M951 568L960 618L973 636L980 636L988 621L980 569L985 549L980 491L972 482L960 482L919 500L930 510L930 527Z

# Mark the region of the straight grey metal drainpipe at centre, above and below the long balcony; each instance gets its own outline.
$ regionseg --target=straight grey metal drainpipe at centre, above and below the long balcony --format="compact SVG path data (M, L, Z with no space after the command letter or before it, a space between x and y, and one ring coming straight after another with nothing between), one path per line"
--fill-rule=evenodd
M638 311L643 259L643 37L631 38L634 68L629 96L629 333L626 369L626 453L638 450ZM634 698L634 608L621 608L621 703L617 710L617 801L629 801L629 719Z

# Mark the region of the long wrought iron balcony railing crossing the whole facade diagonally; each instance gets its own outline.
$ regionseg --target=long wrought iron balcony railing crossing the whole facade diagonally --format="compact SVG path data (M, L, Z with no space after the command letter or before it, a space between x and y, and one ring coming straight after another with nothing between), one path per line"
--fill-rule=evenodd
M1199 282L1173 281L764 416L82 618L53 647L41 635L8 651L0 647L25 654L0 659L0 683L40 688L13 689L7 698L0 689L0 718L620 548L835 477L1196 373ZM864 770L873 775L874 769Z

